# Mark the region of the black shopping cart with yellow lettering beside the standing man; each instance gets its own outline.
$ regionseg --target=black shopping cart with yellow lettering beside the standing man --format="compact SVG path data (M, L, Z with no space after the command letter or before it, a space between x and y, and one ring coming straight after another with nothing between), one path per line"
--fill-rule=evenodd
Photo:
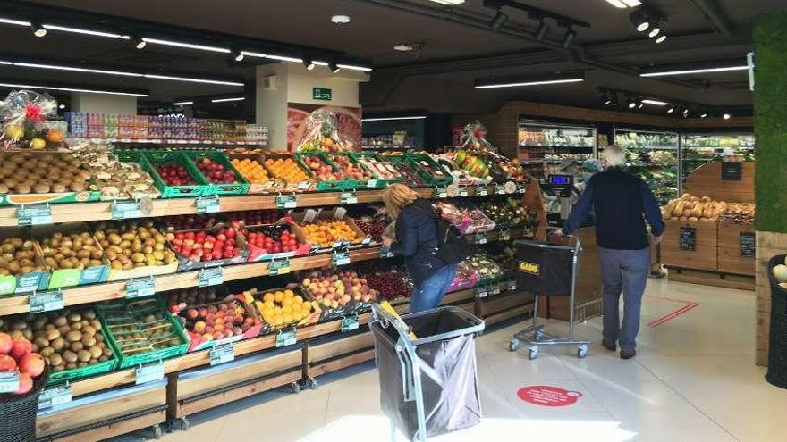
M574 338L574 296L577 286L577 262L582 246L580 238L567 236L574 246L555 246L532 241L514 241L514 253L518 263L517 287L533 293L533 322L527 329L515 334L509 350L516 351L523 342L528 343L530 360L538 357L540 346L577 346L577 356L588 355L587 340ZM548 241L547 237L547 241ZM544 325L537 324L539 296L569 296L569 336L558 338L546 334Z

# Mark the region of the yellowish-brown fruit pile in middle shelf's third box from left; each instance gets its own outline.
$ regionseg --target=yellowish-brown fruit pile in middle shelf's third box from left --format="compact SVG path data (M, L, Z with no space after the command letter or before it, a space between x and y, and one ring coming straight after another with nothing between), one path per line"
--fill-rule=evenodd
M93 235L115 270L177 262L174 252L166 248L166 237L153 227L153 221L99 222Z

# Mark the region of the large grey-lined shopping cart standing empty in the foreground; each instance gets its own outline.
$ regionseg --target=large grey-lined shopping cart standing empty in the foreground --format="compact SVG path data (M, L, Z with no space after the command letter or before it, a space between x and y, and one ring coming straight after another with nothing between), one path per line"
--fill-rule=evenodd
M409 440L465 429L481 420L475 338L484 321L457 307L394 317L373 306L380 405ZM416 338L413 338L415 335Z

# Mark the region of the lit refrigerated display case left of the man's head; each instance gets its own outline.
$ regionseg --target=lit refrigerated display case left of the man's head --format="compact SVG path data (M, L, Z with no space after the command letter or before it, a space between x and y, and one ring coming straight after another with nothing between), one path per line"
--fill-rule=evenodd
M596 128L588 126L520 120L520 162L530 175L543 179L565 161L581 164L595 158L596 132Z

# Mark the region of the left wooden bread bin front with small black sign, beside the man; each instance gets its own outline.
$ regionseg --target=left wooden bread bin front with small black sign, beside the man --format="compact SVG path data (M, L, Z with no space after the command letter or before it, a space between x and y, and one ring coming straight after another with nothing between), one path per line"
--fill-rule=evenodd
M661 243L661 261L667 267L718 271L718 223L705 221L664 221L664 239ZM695 250L681 250L681 228L697 232Z

